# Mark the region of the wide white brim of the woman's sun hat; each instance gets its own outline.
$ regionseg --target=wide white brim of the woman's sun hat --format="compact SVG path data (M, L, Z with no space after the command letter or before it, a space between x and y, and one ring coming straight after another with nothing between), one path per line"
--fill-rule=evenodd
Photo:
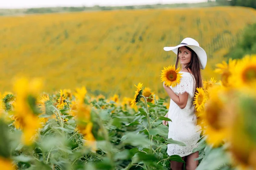
M200 61L200 68L204 69L206 67L206 64L207 64L207 54L204 51L204 49L199 47L199 46L179 44L175 47L164 47L163 50L164 51L173 51L175 54L177 54L178 53L178 48L183 47L183 46L187 46L187 47L191 48L193 51L195 51L195 53L198 55L198 58L199 58L199 61Z

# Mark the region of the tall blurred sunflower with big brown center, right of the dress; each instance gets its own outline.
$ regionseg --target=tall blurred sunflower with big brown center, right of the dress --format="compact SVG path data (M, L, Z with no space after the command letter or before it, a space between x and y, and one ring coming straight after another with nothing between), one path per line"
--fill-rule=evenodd
M207 143L218 146L229 135L225 117L225 101L227 91L223 86L214 86L209 91L209 100L205 104L202 112L204 119L205 134Z

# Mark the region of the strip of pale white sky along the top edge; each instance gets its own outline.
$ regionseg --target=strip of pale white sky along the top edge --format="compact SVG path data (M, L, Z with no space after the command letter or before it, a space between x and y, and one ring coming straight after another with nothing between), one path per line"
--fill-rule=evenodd
M56 6L126 6L156 3L197 3L207 0L0 0L0 8L38 8Z

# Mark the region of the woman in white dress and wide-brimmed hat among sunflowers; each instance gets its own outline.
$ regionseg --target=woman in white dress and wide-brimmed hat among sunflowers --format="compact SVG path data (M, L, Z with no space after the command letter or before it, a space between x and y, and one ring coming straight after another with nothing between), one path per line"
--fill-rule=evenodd
M174 88L163 84L163 88L171 98L169 111L165 117L172 120L172 122L163 121L163 124L169 124L168 138L186 144L186 146L168 144L167 153L169 156L181 156L186 162L186 170L195 170L198 161L194 161L194 159L198 158L199 153L192 153L192 150L198 147L197 142L200 139L201 129L196 125L193 99L196 88L202 87L200 68L205 68L207 54L192 38L185 38L180 45L165 47L164 50L177 54L175 67L177 68L178 62L180 62L182 77L180 83ZM171 161L171 169L182 170L183 163Z

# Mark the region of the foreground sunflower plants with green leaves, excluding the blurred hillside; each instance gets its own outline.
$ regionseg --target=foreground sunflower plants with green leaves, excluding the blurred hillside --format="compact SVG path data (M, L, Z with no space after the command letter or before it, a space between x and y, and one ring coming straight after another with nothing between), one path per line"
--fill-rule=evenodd
M216 65L221 77L204 81L194 105L201 127L197 170L256 169L256 56ZM182 75L181 75L182 77ZM160 79L159 79L160 81ZM0 112L0 167L4 170L168 170L162 120L165 99L143 82L133 99L87 95L86 87L41 91L40 79L19 78Z

